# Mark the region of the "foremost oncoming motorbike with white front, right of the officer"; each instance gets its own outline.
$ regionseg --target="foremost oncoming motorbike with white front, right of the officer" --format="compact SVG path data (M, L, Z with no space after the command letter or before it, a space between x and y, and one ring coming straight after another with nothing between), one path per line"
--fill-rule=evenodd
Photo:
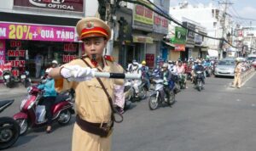
M173 92L175 82L170 81L170 98L166 96L166 92L164 91L164 83L162 79L154 79L154 92L150 94L148 100L149 109L154 110L158 109L160 104L167 103L168 105L172 106L175 103L175 93Z

